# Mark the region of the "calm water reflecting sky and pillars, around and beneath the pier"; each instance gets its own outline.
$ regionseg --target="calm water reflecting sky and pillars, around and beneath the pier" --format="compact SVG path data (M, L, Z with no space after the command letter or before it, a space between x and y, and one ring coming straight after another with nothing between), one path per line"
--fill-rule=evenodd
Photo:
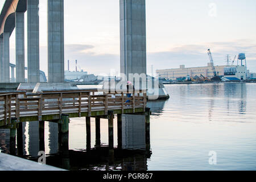
M151 107L151 150L145 150L144 117L123 115L123 150L110 159L108 121L101 119L100 149L85 151L85 118L69 126L69 154L59 155L57 125L46 123L47 163L72 170L255 170L256 84L166 85L168 101L148 102ZM92 118L92 147L95 121ZM39 151L38 122L23 123L23 154ZM117 118L114 121L117 146ZM9 131L0 130L2 152L9 152ZM209 164L209 152L217 164Z

